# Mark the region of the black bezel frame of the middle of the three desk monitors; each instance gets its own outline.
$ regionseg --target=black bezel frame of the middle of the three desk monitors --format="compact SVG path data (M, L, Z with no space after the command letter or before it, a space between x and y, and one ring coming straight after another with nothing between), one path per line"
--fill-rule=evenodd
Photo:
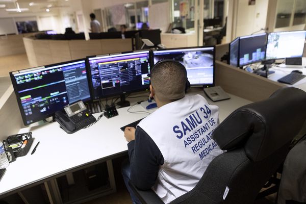
M148 85L146 88L140 88L140 89L134 89L131 91L122 91L120 93L114 93L114 94L108 94L107 96L103 95L103 96L96 96L94 94L94 88L92 86L92 78L91 78L91 68L90 68L90 63L89 63L89 59L90 58L98 58L98 57L111 57L114 55L123 55L123 54L136 54L139 52L148 52L148 65L150 66L150 70L151 70L151 64L150 64L150 51L149 50L135 50L135 51L128 51L128 52L121 52L121 53L111 53L111 54L106 54L106 55L95 55L95 56L88 56L86 57L86 72L88 73L87 75L87 79L88 79L88 83L89 83L89 90L90 90L90 95L91 95L91 99L92 100L97 100L100 98L109 98L109 97L114 97L114 96L120 96L122 94L129 94L129 93L134 93L134 92L139 92L139 91L148 91L150 86Z

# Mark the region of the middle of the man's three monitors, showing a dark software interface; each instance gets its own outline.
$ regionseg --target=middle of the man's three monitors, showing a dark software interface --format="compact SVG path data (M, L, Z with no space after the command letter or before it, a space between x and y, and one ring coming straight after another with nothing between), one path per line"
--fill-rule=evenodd
M149 88L149 51L89 57L93 99Z

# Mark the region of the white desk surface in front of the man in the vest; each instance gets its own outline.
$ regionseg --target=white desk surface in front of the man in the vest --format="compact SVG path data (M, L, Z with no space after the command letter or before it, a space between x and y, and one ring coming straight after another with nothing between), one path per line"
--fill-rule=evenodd
M192 89L189 94L203 94L200 89ZM231 95L231 94L230 94ZM138 98L139 99L139 98ZM230 100L209 103L219 106L220 121L237 108L251 101L231 95ZM31 184L47 181L60 174L72 172L75 168L93 162L111 159L127 150L127 142L119 127L147 116L145 113L129 113L128 107L118 109L119 116L107 119L102 117L88 129L74 134L66 134L57 122L21 129L20 133L32 132L33 145L27 156L17 158L9 165L1 185L0 196ZM130 111L143 111L136 105ZM150 110L150 113L154 110ZM94 114L97 118L99 114ZM35 154L31 152L40 141Z

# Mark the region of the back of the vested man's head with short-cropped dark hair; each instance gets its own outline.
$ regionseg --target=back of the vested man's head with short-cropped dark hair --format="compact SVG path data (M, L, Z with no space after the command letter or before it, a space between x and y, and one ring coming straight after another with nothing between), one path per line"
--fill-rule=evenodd
M173 101L185 96L187 71L176 61L157 63L151 71L151 85L161 100Z

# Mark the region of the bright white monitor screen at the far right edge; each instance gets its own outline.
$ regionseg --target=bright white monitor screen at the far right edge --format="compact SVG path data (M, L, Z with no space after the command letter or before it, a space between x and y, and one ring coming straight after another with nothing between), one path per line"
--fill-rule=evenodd
M266 59L302 57L306 31L269 33Z

